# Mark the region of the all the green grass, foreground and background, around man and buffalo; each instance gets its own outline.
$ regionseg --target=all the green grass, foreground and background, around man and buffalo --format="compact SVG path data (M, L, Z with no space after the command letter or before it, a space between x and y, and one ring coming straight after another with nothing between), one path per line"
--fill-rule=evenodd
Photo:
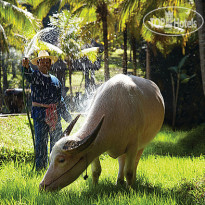
M73 132L80 127L80 118ZM63 121L63 128L66 123ZM0 119L0 153L6 149L17 160L0 166L0 204L205 204L205 125L190 131L164 126L145 149L132 189L116 186L118 162L102 155L99 185L80 176L59 192L39 192L45 174L32 171L32 140L26 116ZM30 157L28 157L30 156ZM22 158L24 159L22 161Z

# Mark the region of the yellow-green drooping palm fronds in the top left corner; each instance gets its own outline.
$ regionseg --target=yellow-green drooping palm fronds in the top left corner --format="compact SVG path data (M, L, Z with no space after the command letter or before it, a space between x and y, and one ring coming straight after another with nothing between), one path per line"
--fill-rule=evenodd
M24 42L29 40L40 27L36 17L17 1L0 1L0 20L0 30L4 33L1 48L9 44L22 49Z

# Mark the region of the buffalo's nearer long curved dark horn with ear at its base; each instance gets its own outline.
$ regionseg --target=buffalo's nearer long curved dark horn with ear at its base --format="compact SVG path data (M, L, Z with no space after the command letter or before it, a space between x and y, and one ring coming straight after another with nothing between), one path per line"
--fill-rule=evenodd
M102 119L100 120L100 122L98 123L98 125L96 126L96 128L93 130L93 132L88 135L87 137L85 137L83 140L81 141L75 141L75 140L68 140L64 146L63 149L68 153L68 154L77 154L82 152L83 150L87 149L96 139L96 137L98 136L98 133L101 129L101 126L103 124L104 121L104 117L102 117Z

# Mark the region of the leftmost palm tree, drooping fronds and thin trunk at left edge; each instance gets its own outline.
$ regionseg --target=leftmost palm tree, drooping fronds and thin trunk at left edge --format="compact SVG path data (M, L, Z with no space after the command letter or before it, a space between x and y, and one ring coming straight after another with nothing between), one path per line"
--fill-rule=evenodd
M33 35L39 27L35 17L26 10L19 7L18 1L0 1L0 107L2 105L2 83L3 89L7 88L7 72L5 63L5 53L9 53L9 46L22 47L22 38ZM19 35L21 34L21 35ZM19 41L20 40L20 41ZM21 43L19 43L21 42ZM1 72L3 71L3 73Z

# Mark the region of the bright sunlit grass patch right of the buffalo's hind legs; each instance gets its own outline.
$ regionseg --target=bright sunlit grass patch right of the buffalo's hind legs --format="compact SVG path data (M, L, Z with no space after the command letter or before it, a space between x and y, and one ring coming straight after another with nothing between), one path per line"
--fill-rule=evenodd
M192 181L204 175L205 158L147 156L142 157L138 167L140 177L149 176L153 186L174 188L184 179Z

